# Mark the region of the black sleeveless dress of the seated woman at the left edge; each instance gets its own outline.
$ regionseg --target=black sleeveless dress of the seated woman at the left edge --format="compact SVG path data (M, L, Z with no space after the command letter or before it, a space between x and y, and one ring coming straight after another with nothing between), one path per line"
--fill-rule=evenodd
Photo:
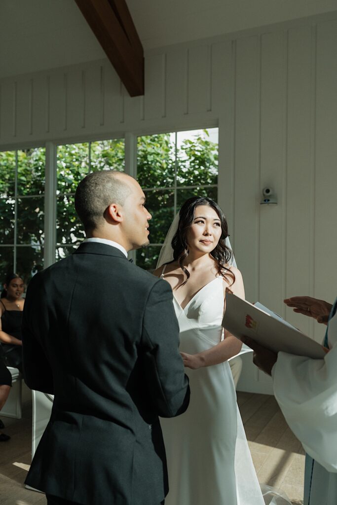
M1 300L0 300L1 301ZM22 311L8 311L1 301L4 307L3 315L1 316L2 329L5 333L12 335L12 337L22 340ZM3 360L6 366L15 367L22 372L22 347L21 345L5 344L2 343L3 350Z

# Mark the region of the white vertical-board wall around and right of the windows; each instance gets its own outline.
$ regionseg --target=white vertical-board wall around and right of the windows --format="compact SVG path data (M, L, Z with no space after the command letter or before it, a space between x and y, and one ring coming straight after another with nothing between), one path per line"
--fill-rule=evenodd
M337 294L337 12L155 49L145 84L130 98L106 60L5 79L0 148L219 125L219 202L247 298L320 339L282 299ZM267 185L277 206L259 204ZM271 390L249 365L240 386Z

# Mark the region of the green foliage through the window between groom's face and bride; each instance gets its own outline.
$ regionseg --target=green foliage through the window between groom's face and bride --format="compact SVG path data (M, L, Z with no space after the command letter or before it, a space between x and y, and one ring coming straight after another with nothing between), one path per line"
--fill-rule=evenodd
M137 265L146 270L156 267L159 244L187 198L209 196L217 200L218 144L210 140L207 130L188 133L187 138L186 132L138 138L137 177L153 216L151 244L136 253Z

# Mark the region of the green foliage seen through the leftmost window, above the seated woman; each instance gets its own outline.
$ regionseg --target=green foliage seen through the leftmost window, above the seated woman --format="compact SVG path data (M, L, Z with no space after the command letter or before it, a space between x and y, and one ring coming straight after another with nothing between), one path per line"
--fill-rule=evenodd
M44 166L44 148L0 152L0 284L14 270L15 243L25 282L43 268Z

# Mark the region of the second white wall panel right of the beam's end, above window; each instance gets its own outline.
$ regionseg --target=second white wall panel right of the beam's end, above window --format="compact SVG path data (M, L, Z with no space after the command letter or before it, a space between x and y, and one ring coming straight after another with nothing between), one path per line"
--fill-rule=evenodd
M166 117L186 113L186 52L170 51L166 55Z

